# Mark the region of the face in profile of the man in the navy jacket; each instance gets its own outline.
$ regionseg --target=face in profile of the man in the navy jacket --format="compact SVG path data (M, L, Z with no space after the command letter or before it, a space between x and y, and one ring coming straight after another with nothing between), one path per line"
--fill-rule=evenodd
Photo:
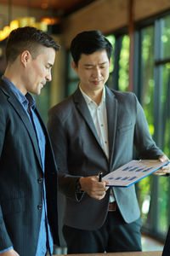
M54 65L55 50L43 47L36 59L31 57L27 66L26 90L39 95L47 81L51 81L51 68Z

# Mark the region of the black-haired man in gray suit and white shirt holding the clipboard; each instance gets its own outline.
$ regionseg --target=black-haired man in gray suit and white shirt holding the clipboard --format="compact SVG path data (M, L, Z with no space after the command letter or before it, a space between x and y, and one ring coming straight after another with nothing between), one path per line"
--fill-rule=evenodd
M137 97L105 86L111 51L99 31L78 34L71 42L71 64L80 84L49 111L59 189L66 199L63 234L68 253L140 251L134 186L108 189L98 174L133 160L133 146L139 158L167 160L150 136Z

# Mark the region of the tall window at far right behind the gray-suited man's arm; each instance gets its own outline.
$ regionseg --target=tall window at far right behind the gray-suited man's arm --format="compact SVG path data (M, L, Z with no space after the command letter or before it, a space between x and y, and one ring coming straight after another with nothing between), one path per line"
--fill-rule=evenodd
M170 15L135 34L134 89L139 97L150 133L170 155ZM169 225L167 177L151 175L137 184L143 230L164 239Z

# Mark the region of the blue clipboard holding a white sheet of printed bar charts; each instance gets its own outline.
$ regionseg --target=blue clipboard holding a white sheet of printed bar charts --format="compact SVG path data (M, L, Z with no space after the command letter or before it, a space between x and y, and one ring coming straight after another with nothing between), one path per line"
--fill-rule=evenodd
M105 175L103 181L109 182L111 187L129 187L140 179L156 172L162 166L166 166L169 160L161 162L159 160L132 160L113 172Z

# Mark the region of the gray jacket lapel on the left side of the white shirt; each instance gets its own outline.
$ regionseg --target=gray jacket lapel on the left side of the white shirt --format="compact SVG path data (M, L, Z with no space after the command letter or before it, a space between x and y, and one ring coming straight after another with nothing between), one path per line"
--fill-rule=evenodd
M82 114L82 118L85 119L90 130L94 134L94 137L96 138L96 141L99 143L99 146L102 148L101 143L99 141L98 133L97 133L95 125L94 125L94 121L93 121L92 116L88 110L87 103L85 102L85 100L82 96L82 93L79 89L77 89L76 92L74 93L73 101L75 102L78 111ZM103 150L103 148L102 148L102 150Z

